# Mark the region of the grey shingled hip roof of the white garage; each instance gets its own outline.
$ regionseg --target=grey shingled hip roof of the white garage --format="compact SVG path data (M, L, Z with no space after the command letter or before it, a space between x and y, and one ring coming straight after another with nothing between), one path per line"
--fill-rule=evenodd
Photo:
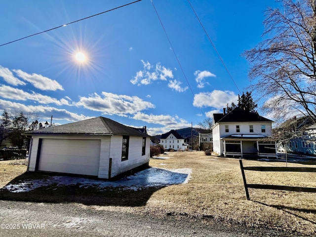
M125 126L110 118L97 117L59 126L27 131L25 134L93 134L93 135L130 135L148 136L139 130Z

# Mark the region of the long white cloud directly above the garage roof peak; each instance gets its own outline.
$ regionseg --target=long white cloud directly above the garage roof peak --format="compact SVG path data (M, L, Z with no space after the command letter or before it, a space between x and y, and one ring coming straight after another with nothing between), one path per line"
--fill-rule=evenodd
M108 92L102 92L102 96L94 93L89 97L80 97L77 105L103 114L124 117L127 114L135 114L142 110L155 108L155 105L143 101L137 96L117 95Z

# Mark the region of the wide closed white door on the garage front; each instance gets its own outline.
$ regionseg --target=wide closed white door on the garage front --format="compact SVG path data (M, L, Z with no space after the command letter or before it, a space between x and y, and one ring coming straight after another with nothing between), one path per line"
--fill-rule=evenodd
M98 176L101 140L42 139L38 170Z

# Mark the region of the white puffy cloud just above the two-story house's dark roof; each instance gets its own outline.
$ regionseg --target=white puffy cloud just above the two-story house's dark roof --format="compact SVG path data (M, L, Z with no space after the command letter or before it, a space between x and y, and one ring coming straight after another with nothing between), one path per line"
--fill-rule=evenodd
M226 108L227 104L237 102L238 95L233 91L213 90L203 92L194 96L193 105L198 108L213 107L216 109Z

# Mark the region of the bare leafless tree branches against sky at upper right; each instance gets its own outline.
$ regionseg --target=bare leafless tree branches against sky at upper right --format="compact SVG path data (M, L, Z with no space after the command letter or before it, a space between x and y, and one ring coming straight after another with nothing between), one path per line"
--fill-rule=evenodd
M243 54L249 89L276 120L301 114L316 122L316 0L280 2L266 11L265 40Z

